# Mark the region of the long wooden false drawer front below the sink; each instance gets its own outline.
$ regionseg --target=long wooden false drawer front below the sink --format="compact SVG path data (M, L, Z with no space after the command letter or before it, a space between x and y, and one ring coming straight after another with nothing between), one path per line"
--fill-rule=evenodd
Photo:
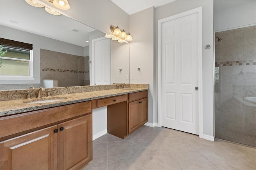
M91 102L81 102L0 118L0 138L91 113Z

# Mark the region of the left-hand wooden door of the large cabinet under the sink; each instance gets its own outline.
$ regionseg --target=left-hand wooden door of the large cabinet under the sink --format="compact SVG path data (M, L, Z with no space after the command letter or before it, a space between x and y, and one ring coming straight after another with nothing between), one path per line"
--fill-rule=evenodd
M56 125L0 142L0 169L56 170L57 128Z

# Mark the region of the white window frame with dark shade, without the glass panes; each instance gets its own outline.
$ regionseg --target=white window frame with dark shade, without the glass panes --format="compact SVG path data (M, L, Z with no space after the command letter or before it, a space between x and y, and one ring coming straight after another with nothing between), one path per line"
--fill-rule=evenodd
M29 75L0 75L0 80L34 80L35 78L33 76L34 69L33 69L32 44L17 42L17 41L14 41L14 40L7 40L7 39L4 39L4 38L0 38L0 44L1 45L8 45L10 47L21 47L21 48L29 49L29 60L28 59L9 58L9 57L0 57L0 59L28 61L29 62L29 65L28 65Z

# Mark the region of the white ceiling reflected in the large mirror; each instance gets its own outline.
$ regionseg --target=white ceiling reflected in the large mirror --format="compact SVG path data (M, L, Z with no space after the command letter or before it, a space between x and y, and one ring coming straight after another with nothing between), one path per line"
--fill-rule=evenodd
M72 1L70 6L72 6ZM50 3L45 1L45 3ZM10 22L18 22L18 24ZM0 0L0 25L16 28L48 38L68 42L82 47L88 46L89 32L94 28L86 26L64 15L54 16L44 8L37 8L25 0ZM78 32L72 31L73 29Z

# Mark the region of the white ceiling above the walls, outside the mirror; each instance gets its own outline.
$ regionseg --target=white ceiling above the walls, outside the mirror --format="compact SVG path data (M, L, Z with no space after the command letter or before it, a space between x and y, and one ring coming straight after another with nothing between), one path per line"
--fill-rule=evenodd
M168 4L175 0L111 0L114 2L119 8L124 10L127 14L131 15L136 12L145 10L154 6L155 8L158 6L162 6L164 4Z

